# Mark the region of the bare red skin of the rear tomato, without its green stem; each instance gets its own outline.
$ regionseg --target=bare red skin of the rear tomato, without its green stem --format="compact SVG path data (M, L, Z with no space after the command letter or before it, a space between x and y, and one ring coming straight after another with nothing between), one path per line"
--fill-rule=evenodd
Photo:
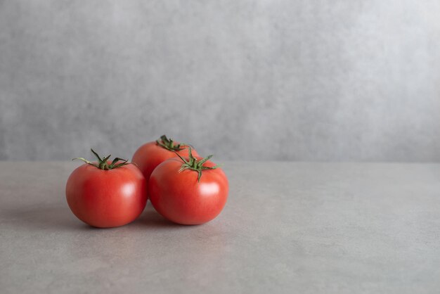
M176 142L177 143L177 142ZM186 157L188 156L188 148L180 151L176 151L179 155ZM193 149L193 154L198 155L197 151ZM157 145L155 141L145 143L134 153L131 162L136 163L139 170L141 170L145 179L150 179L150 175L155 170L157 165L164 162L169 158L177 157L176 153L169 151L161 146Z

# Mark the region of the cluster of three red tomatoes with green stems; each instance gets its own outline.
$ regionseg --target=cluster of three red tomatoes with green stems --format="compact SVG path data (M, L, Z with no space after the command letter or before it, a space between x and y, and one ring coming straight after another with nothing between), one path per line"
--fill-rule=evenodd
M167 136L145 143L131 162L110 161L95 151L96 162L84 158L70 174L66 198L72 212L91 226L108 228L133 222L148 198L166 219L178 224L203 224L226 204L228 179L188 144Z

